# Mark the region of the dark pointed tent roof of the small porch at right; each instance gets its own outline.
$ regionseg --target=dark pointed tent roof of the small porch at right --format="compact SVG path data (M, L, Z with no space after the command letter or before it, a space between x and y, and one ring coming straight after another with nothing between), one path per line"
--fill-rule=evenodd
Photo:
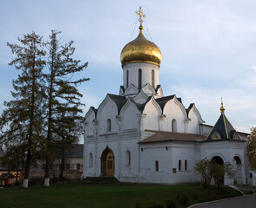
M226 118L225 114L220 114L219 120L217 120L212 131L207 136L206 140L241 140L239 133L232 127L230 121Z

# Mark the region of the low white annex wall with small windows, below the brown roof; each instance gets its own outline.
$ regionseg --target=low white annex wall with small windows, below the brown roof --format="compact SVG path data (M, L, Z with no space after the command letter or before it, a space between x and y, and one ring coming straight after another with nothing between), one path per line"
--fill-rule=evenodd
M167 146L167 149L166 149ZM197 172L194 171L195 146L193 142L161 142L160 144L144 144L140 147L140 177L143 183L175 184L198 181ZM179 159L182 160L182 170L179 171ZM187 159L187 171L185 171ZM158 172L155 170L155 161L158 160ZM176 173L172 172L176 168Z

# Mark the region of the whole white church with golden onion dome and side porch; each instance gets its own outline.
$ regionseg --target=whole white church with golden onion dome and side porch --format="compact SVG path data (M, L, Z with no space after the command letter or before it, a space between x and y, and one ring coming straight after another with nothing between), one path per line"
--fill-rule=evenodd
M175 94L164 96L159 84L161 52L143 35L125 45L120 59L123 85L107 94L84 120L83 179L115 177L123 182L179 184L199 181L200 159L232 163L235 179L225 185L255 184L246 156L246 133L227 120L223 103L214 127L205 125L194 103L185 107Z

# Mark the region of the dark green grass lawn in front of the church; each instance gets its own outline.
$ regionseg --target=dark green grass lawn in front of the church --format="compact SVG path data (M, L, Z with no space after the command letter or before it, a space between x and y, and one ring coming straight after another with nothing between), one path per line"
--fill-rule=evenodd
M179 193L185 193L188 205L200 202L239 196L239 192L225 187L204 189L199 185L137 185L137 184L83 184L63 182L44 188L32 185L24 190L20 187L0 189L0 207L4 208L135 208L136 204L148 208L152 202L176 200ZM139 202L139 203L138 203ZM177 207L179 206L177 202Z

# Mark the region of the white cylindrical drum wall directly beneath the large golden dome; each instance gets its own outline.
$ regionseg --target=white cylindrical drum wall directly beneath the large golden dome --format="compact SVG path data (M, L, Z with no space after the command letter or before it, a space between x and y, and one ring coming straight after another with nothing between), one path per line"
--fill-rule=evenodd
M155 71L155 88L159 84L159 68L157 65L152 63L145 62L131 62L124 66L123 68L123 85L127 88L126 83L126 71L129 71L129 84L132 83L134 86L138 88L138 68L142 69L142 83L143 87L145 84L149 83L152 85L152 70ZM128 86L129 86L128 84Z

